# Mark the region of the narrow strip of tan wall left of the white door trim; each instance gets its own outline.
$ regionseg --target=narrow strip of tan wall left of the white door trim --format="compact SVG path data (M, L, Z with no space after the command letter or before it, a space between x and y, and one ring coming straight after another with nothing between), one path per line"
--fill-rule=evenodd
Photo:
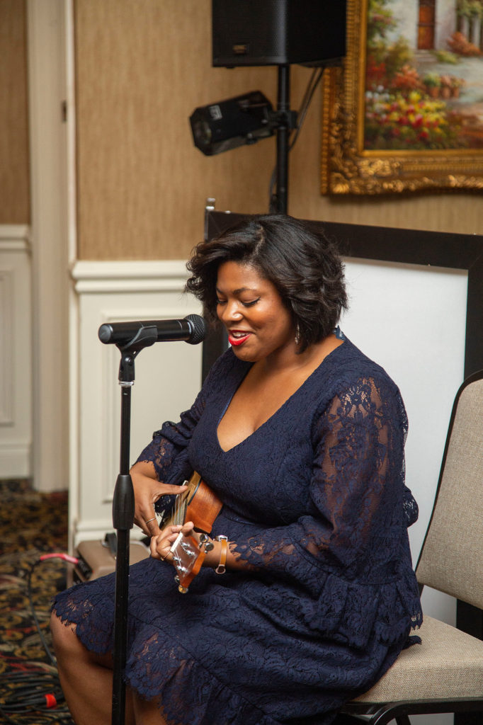
M25 0L0 0L0 224L28 224Z

